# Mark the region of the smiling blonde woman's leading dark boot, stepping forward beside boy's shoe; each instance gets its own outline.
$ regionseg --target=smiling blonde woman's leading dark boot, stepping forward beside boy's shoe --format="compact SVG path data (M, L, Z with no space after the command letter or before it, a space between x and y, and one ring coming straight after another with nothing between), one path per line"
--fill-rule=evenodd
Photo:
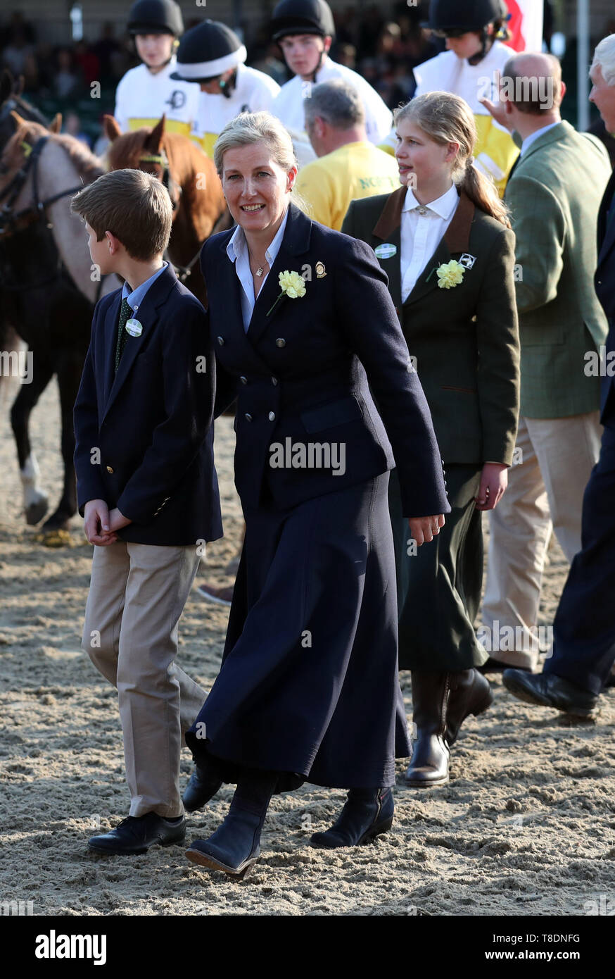
M193 863L245 877L260 856L260 833L278 783L277 771L244 769L233 802L221 826L186 851Z

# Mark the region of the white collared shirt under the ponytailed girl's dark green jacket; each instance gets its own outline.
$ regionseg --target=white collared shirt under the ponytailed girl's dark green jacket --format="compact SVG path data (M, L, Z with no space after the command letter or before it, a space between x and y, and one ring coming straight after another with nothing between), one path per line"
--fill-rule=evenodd
M419 213L416 209L422 206L413 194L412 187L406 191L401 226L402 303L412 293L418 276L446 234L459 203L460 196L453 184L442 197L426 204L424 213Z

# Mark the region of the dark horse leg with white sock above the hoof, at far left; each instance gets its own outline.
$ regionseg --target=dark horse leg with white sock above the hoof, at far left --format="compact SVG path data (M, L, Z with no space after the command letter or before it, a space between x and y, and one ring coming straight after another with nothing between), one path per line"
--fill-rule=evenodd
M22 384L20 393L11 408L11 426L20 462L23 510L27 524L37 524L43 519L49 507L49 497L38 484L40 469L30 445L28 424L32 408L49 384L53 373L49 361L37 355L32 381L30 384Z

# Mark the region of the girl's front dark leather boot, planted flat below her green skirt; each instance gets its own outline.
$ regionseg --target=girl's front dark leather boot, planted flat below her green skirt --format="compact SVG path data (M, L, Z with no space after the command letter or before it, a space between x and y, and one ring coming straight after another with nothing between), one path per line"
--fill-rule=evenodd
M413 671L413 756L407 785L430 788L449 780L450 751L445 740L450 674Z

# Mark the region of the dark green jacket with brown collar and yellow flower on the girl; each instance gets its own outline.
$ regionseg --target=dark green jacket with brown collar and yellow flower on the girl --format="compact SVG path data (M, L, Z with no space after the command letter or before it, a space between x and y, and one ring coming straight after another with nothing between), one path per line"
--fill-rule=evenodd
M400 187L392 194L353 201L341 230L378 252L382 244L395 248L394 254L378 260L416 358L445 464L510 465L519 409L514 235L461 193L446 234L402 303L405 196L406 188ZM469 256L465 261L471 267L465 268L461 284L439 288L436 269L463 256Z

